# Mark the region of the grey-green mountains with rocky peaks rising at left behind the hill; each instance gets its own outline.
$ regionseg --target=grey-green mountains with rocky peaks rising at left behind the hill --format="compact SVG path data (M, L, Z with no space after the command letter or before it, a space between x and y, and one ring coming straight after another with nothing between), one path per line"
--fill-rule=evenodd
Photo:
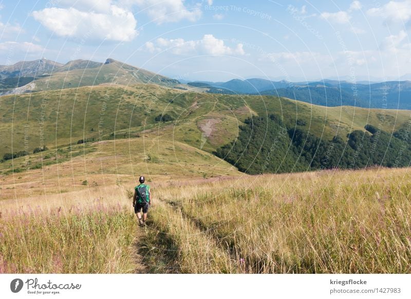
M104 63L73 60L66 64L39 59L0 66L2 95L99 85L152 83L174 87L180 82L114 59Z

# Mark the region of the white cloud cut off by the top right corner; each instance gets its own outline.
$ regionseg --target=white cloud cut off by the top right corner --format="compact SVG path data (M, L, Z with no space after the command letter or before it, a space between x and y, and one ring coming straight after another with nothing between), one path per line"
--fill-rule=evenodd
M370 16L383 17L388 22L407 22L411 18L411 0L402 2L390 1L382 7L367 10Z

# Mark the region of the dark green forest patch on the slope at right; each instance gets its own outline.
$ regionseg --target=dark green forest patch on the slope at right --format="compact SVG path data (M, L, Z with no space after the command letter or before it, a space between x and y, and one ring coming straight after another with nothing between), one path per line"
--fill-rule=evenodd
M271 115L247 119L238 138L215 154L248 174L403 167L411 162L411 140L405 127L391 135L371 125L365 132L351 132L347 140L322 140Z

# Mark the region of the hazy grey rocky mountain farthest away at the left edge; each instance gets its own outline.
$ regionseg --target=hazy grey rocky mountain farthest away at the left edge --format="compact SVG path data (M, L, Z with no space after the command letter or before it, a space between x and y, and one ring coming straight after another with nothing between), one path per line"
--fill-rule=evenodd
M34 61L20 61L13 65L0 65L0 78L38 77L50 74L63 64L45 58Z

